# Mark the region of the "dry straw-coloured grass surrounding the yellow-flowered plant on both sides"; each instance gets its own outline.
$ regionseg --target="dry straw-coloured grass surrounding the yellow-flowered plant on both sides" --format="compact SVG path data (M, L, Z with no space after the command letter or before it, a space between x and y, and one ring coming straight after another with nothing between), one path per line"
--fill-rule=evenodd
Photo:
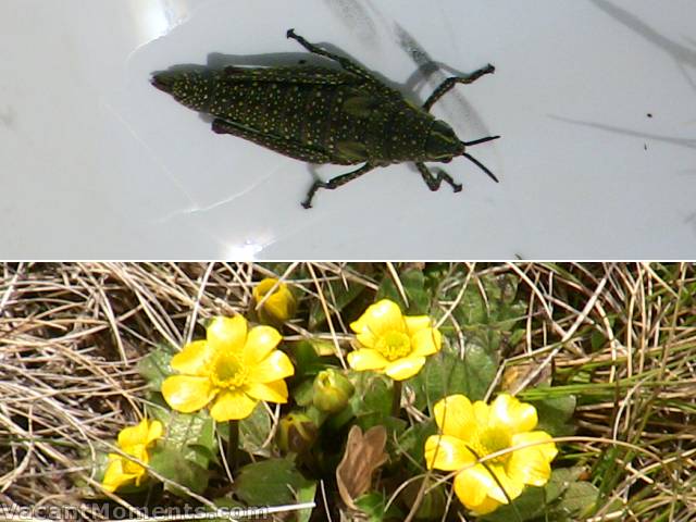
M158 343L182 346L199 321L248 310L252 282L281 270L331 310L328 281L376 282L331 263L5 264L0 270L0 504L85 501L95 451L138 420L136 363ZM374 266L372 268L374 273ZM450 268L453 269L453 268ZM693 265L474 265L520 278L525 339L505 353L525 389L555 369L579 397L567 461L605 494L593 520L696 520L696 271ZM380 268L383 270L383 268ZM386 272L396 274L396 268ZM451 270L451 273L455 271ZM444 313L448 303L442 303ZM304 325L294 326L297 336ZM332 316L324 334L340 337ZM334 337L336 338L336 337ZM535 364L525 365L530 360ZM529 370L532 369L532 370ZM86 520L96 513L84 513Z

